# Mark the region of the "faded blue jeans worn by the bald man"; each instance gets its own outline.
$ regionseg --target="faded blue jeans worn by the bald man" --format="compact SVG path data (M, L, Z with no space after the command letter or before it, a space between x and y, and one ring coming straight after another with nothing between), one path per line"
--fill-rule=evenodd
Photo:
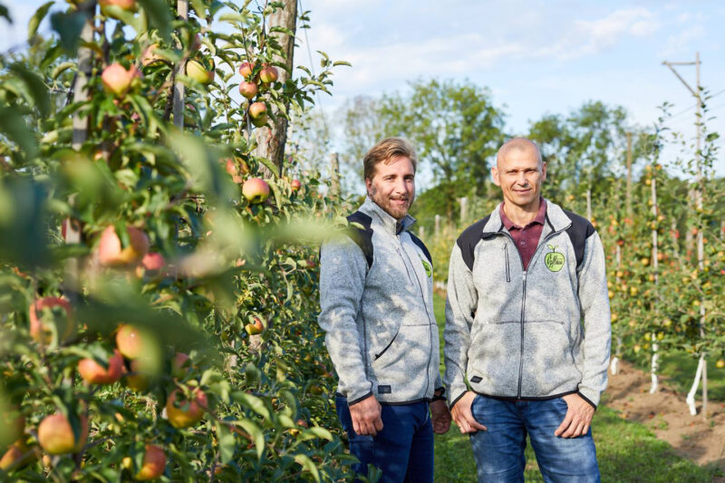
M562 398L546 401L500 401L477 395L473 417L488 428L470 436L480 483L523 483L527 434L546 483L599 483L592 430L578 438L559 438L564 420Z

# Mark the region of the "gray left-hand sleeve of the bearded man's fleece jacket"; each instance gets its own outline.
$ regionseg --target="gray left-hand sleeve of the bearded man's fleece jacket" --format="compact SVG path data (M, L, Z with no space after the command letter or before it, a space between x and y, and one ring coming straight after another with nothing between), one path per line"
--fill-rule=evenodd
M365 373L362 336L356 323L365 288L367 262L349 237L324 243L320 253L320 315L324 343L348 404L372 396Z

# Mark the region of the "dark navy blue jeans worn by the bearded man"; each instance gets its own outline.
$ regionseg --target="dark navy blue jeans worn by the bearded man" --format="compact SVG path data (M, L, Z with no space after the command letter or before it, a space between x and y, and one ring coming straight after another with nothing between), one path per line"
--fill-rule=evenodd
M335 397L337 416L350 440L350 452L360 459L355 473L367 475L368 464L381 469L381 482L432 483L433 426L428 402L382 405L382 431L361 436L353 430L347 399Z

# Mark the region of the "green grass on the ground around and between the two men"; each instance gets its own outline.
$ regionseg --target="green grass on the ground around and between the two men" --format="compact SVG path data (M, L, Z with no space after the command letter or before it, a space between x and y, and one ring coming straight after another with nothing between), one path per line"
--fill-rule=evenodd
M441 333L445 322L445 300L434 295L436 320ZM623 420L617 411L600 405L592 423L597 459L602 481L616 482L702 482L720 475L714 467L699 467L674 454L672 447L657 440L642 424ZM527 481L543 481L536 466L536 457L527 446ZM448 433L436 436L435 481L453 483L476 481L476 463L469 437L460 434L455 425Z

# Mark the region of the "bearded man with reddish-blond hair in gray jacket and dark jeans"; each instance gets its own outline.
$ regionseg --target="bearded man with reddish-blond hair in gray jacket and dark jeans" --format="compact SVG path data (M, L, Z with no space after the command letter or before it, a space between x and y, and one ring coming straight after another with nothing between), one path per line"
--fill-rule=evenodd
M415 151L399 138L363 160L367 198L351 231L324 244L319 324L339 378L337 414L367 474L385 482L433 481L433 432L449 429L439 373L428 249L408 231ZM431 423L432 421L432 423Z

